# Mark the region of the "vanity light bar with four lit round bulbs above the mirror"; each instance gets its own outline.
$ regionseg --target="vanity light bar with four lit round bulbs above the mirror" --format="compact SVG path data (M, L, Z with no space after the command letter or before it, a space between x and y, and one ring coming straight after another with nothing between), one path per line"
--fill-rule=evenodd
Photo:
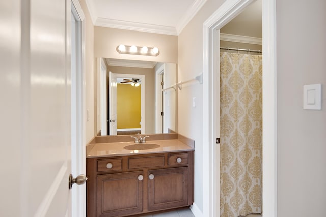
M157 47L139 47L139 46L129 46L129 45L119 45L117 46L117 52L120 54L133 54L133 55L147 55L147 56L158 56L159 50Z

